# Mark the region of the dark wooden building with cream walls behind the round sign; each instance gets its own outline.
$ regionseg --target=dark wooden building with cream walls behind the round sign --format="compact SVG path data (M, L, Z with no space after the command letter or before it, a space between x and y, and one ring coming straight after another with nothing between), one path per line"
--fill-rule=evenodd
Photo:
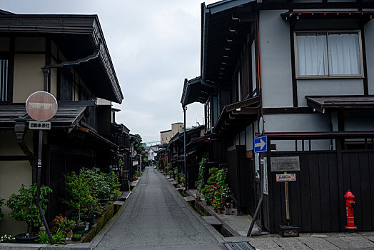
M47 91L58 101L44 132L42 184L53 189L47 219L64 214L64 176L81 167L109 171L118 159L111 102L123 95L96 15L0 14L0 198L36 182L38 136L30 130L27 97ZM104 103L98 101L103 99ZM125 132L126 134L126 132ZM120 136L121 137L121 136ZM119 144L119 145L118 145ZM3 211L7 214L6 207ZM4 217L0 234L25 231Z

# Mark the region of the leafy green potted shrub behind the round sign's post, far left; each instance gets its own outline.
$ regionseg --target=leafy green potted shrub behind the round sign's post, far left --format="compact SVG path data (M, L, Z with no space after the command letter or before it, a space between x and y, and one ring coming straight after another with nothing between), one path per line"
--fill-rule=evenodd
M40 187L40 204L41 209L45 212L47 209L47 196L52 192L49 186ZM25 189L22 184L19 194L11 194L5 203L11 209L9 217L17 221L25 221L27 223L27 233L17 234L16 242L32 243L38 239L38 234L32 229L41 226L41 216L36 204L36 184L32 184L29 189Z

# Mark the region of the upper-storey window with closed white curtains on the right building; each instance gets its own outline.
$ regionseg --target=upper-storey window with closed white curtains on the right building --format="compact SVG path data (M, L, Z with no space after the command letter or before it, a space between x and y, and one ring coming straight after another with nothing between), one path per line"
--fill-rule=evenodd
M360 32L297 32L297 76L362 76Z

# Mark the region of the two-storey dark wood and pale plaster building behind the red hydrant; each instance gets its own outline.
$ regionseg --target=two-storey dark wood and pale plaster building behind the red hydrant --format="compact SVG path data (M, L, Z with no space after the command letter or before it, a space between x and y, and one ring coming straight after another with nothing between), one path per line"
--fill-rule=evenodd
M205 105L238 209L254 214L265 189L257 222L271 233L286 224L274 167L285 156L300 162L288 186L291 224L343 231L349 189L358 230L374 229L373 14L369 0L201 5L201 76L185 81L181 103ZM268 151L253 154L260 134Z

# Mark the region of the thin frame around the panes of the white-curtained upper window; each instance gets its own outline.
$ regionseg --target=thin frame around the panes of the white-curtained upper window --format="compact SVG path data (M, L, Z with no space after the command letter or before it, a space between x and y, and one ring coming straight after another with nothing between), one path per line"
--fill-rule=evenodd
M325 33L326 34L326 48L327 48L327 56L328 56L328 75L308 75L308 76L300 76L298 74L298 42L297 42L297 35L298 34L315 34L315 33ZM328 46L328 34L343 34L343 33L356 33L358 34L358 44L359 44L359 51L360 51L360 71L361 74L330 74L330 53L329 53L329 46ZM364 75L364 64L363 64L363 43L361 38L361 31L359 29L348 29L348 30L333 30L333 29L326 29L326 30L298 30L293 31L293 49L295 52L295 78L296 79L362 79L365 77Z

